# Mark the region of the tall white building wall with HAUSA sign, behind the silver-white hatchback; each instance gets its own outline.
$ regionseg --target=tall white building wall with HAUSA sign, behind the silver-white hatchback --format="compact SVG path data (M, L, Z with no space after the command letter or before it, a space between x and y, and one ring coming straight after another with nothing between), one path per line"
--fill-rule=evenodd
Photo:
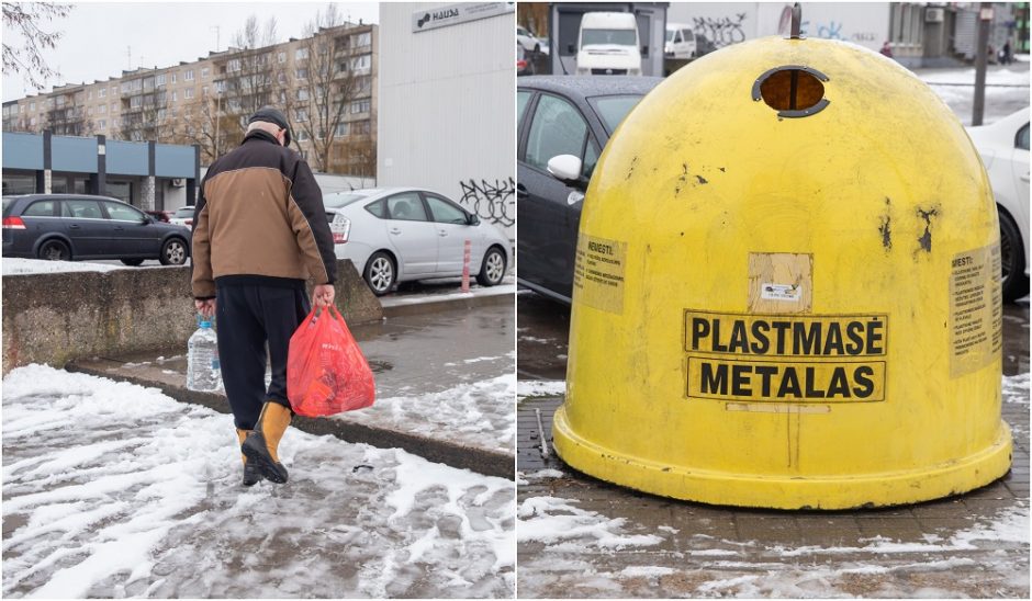
M419 33L380 4L377 182L437 190L515 239L515 12Z

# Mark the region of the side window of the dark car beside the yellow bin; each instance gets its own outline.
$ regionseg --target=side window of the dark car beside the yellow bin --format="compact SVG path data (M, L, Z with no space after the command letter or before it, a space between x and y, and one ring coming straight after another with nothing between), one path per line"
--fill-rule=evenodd
M587 122L576 106L559 97L541 94L530 122L526 161L547 169L552 157L573 155L580 158L586 135Z

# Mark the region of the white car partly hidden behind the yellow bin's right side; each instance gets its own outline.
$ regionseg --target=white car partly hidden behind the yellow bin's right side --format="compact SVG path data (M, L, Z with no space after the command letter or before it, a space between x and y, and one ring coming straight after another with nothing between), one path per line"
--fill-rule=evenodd
M969 127L1000 214L1003 300L1029 292L1029 107L996 123Z

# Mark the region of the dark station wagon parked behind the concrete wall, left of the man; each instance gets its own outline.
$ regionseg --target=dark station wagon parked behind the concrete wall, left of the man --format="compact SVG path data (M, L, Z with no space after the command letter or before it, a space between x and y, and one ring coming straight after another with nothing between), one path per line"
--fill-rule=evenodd
M4 196L2 231L3 256L10 258L121 259L126 265L158 259L181 265L190 256L189 229L106 196Z

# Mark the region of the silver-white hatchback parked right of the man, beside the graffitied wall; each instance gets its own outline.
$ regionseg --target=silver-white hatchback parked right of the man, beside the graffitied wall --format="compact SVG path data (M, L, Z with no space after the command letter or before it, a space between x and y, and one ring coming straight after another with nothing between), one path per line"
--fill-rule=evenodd
M493 286L511 263L511 242L444 194L383 188L323 196L334 252L348 259L377 296L397 282L462 275L465 241L470 275Z

